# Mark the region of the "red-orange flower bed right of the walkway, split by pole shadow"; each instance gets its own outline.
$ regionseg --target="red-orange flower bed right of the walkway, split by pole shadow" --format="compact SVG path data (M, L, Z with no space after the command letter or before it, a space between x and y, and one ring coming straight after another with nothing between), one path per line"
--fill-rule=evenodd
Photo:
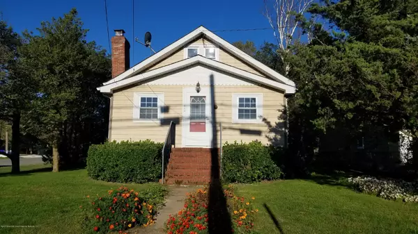
M254 217L258 212L252 207L252 201L235 196L232 186L229 186L224 194L233 224L233 232L251 233L254 228ZM208 188L205 187L187 194L185 208L178 211L176 215L170 215L166 223L166 231L168 234L208 233L208 220Z

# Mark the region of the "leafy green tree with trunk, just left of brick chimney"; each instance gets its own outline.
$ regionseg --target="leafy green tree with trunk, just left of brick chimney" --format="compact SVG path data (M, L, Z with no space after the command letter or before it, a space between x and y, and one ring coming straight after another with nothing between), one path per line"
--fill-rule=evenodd
M109 58L95 42L86 42L88 30L82 25L72 9L42 22L38 35L25 32L26 44L20 49L20 69L36 81L37 93L24 116L25 129L52 146L53 172L59 172L60 160L70 150L63 146L82 147L76 145L77 137L91 140L85 136L87 122L93 124L107 106L95 87L110 77Z

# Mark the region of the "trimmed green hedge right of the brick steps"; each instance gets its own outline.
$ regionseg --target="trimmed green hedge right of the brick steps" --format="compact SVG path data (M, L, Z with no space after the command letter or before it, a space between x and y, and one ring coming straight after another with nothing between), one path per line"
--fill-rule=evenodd
M229 144L222 149L222 179L228 183L274 180L282 175L277 166L277 151L261 142Z

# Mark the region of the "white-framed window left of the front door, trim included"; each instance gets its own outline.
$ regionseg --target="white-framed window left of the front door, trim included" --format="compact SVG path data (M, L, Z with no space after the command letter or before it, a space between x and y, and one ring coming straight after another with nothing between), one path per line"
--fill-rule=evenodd
M157 122L162 119L163 93L134 93L134 122Z

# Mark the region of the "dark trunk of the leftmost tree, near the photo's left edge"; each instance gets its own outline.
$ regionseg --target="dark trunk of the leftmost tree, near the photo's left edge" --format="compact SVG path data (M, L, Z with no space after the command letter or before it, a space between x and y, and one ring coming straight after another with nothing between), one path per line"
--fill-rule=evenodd
M20 172L20 112L13 112L13 124L12 124L12 153L10 160L12 161L12 173Z

